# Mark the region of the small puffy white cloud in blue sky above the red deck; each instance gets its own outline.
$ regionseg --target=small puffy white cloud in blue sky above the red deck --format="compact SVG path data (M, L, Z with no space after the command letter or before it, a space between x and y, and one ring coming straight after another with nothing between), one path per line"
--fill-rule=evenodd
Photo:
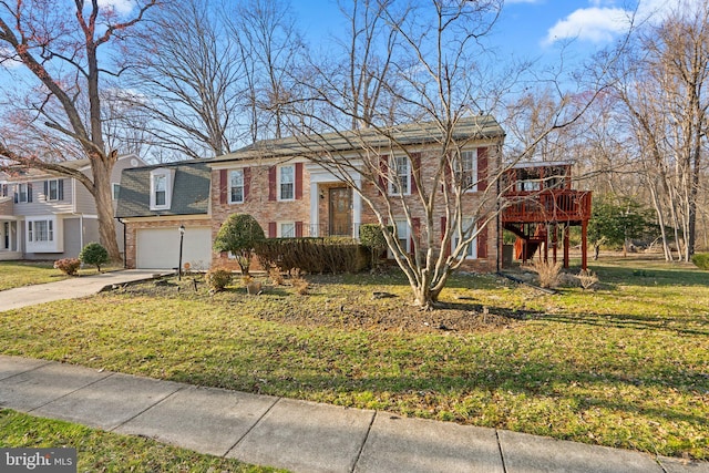
M610 41L615 34L626 31L628 25L628 12L620 8L583 8L557 21L548 30L544 43L573 38L592 42Z

